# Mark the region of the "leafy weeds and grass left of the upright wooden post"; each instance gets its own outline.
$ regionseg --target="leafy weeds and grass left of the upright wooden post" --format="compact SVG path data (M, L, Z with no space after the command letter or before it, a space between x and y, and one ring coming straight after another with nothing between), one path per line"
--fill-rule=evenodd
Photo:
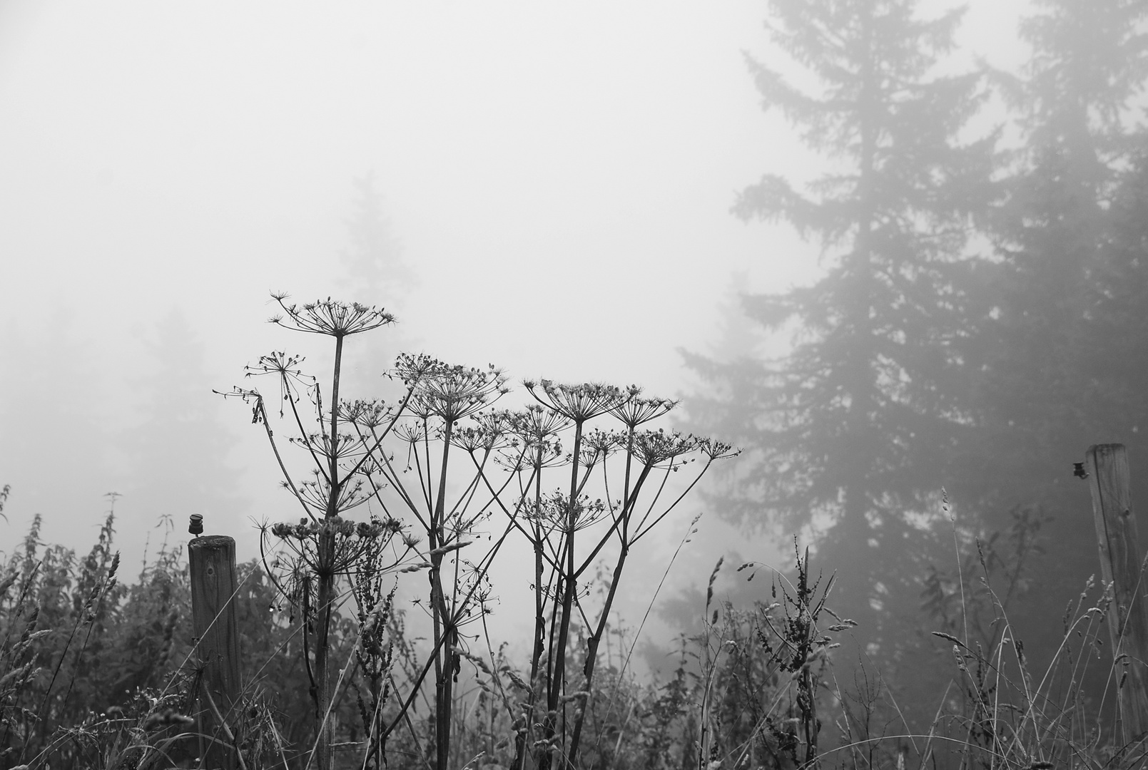
M187 648L179 554L161 549L119 582L114 504L86 555L40 545L36 516L0 580L0 764L100 767L138 744L126 729L181 707L164 692ZM157 726L157 725L156 725ZM109 736L114 736L109 739Z

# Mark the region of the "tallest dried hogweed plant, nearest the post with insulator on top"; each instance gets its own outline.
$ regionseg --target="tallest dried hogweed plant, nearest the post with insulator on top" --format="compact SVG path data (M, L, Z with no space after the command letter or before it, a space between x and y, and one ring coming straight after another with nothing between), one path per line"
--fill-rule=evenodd
M333 687L333 661L331 632L336 620L341 597L336 590L341 578L352 576L366 553L378 553L380 543L389 544L401 532L397 521L372 518L358 524L346 520L343 514L359 506L370 495L367 468L372 461L372 450L357 434L349 430L354 422L348 417L355 405L340 400L340 376L342 373L343 348L347 339L377 329L394 321L394 318L372 306L332 300L303 305L288 304L287 295L273 295L282 313L271 318L271 322L284 328L331 337L334 342L334 364L331 374L329 400L324 405L319 381L304 374L303 358L285 352L263 356L248 366L247 378L270 376L277 381L279 390L279 417L287 418L296 430L289 443L310 460L309 477L296 482L290 473L287 458L276 440L269 420L263 395L254 388L235 387L223 394L241 398L251 406L253 422L262 423L267 441L284 475L284 488L297 500L303 510L298 524L274 524L263 527L264 539L270 534L285 546L279 557L266 563L269 575L281 576L279 588L303 610L304 648L311 651L307 660L311 677L318 729L315 760L319 768L332 767L332 744L335 707ZM393 410L380 412L380 419L390 413L397 419L406 397ZM308 406L303 402L308 402ZM288 417L289 415L289 417ZM402 538L400 538L402 540ZM400 566L412 558L412 544L402 540L403 546L394 550L394 565ZM266 551L264 551L266 553ZM286 573L286 574L285 574ZM313 629L313 644L307 635ZM307 653L305 653L307 656Z

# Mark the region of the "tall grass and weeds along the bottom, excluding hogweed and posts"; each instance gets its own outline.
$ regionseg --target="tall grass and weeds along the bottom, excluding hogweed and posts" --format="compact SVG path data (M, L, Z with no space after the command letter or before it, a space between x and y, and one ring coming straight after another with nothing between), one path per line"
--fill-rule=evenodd
M596 697L566 701L582 709L576 767L1142 767L1142 737L1127 744L1114 738L1122 666L1107 656L1106 586L1088 585L1072 599L1057 654L1040 670L1014 637L1006 597L1031 554L1006 546L1032 535L1021 524L1027 534L972 539L951 573L922 581L922 608L951 674L924 730L910 725L921 715L899 710L895 684L844 658L837 645L848 640L851 623L831 613L833 576L798 552L784 574L759 565L722 573L719 563L698 625L678 637L675 664L661 678L631 668L635 632L614 617L596 647ZM197 767L181 550L161 547L129 585L118 580L110 512L83 555L40 544L39 528L33 519L23 544L6 555L0 580L0 767ZM228 741L245 768L313 767L307 619L293 614L261 565L241 565L240 574L246 685ZM761 599L748 606L722 600L723 574L755 580ZM411 692L426 667L426 643L412 637L393 582L382 577L363 577L334 614L331 655L340 676L332 762L434 767L433 697L420 695L405 710L395 698ZM457 769L512 767L525 720L540 718L529 656L494 641L491 620L479 621L481 644L459 652L451 738ZM595 625L572 623L568 670L584 670L595 632ZM1099 699L1081 686L1094 667L1110 674ZM397 726L381 741L372 720Z

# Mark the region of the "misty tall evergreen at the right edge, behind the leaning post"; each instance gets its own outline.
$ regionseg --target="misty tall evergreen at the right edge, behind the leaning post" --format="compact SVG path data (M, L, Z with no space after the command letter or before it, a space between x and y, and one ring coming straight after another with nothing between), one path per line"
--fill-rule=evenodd
M992 223L994 311L976 343L984 351L977 429L955 493L990 529L1018 507L1046 519L1046 558L1032 562L1041 590L1010 613L1035 666L1055 653L1064 602L1097 567L1088 493L1071 464L1107 442L1130 444L1133 461L1148 462L1124 415L1143 411L1133 395L1141 375L1111 365L1127 356L1114 341L1131 344L1135 327L1122 321L1125 333L1097 334L1131 310L1120 305L1133 285L1112 286L1116 263L1106 266L1127 249L1117 257L1104 244L1116 225L1117 172L1135 143L1128 106L1145 78L1145 14L1134 0L1042 0L1022 22L1031 56L1006 90L1025 143Z

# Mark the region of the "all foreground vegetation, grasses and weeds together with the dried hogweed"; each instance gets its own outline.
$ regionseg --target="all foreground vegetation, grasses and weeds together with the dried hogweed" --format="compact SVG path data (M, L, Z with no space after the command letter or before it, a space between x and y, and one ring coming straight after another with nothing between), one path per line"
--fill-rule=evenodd
M87 554L42 544L38 518L5 554L3 767L192 768L204 756L324 770L1143 763L1143 737L1124 740L1114 724L1127 662L1107 654L1107 586L1064 598L1047 669L1032 670L1014 637L1009 606L1039 554L1039 522L1026 514L987 536L951 516L954 567L918 578L914 648L941 672L929 714L906 713L883 671L846 654L858 624L835 613L833 597L850 576L796 539L784 570L719 561L675 666L639 675L641 628L613 612L627 555L734 450L647 427L675 403L635 387L528 382L527 406L496 410L509 391L501 371L425 356L398 357L393 400L347 399L348 337L390 317L277 300L284 314L272 320L327 339L334 363L321 388L298 356L248 367L273 381L278 410L251 387L225 394L251 409L302 514L261 526L261 558L239 566L243 690L224 705L225 729L199 729L203 661L183 546L165 540L124 581L111 496ZM700 526L695 518L691 532ZM528 639L505 639L490 612L491 565L511 537L533 553L521 567ZM722 599L731 581L748 600ZM409 608L396 606L401 584L421 594ZM1100 699L1080 686L1096 667L1114 672Z

